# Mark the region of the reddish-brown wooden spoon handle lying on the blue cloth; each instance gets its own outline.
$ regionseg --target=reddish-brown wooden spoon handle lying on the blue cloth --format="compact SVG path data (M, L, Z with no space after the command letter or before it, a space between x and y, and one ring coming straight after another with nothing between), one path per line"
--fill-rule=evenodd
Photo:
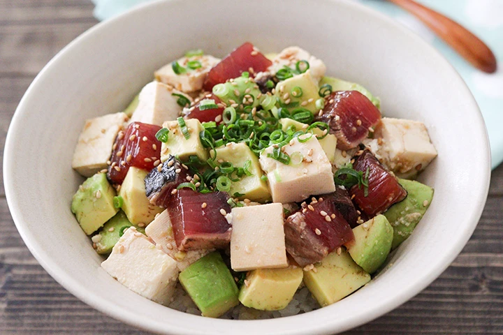
M486 73L497 69L496 57L489 47L470 31L449 17L427 8L413 0L388 0L402 7L423 21L447 44L451 45L461 57Z

